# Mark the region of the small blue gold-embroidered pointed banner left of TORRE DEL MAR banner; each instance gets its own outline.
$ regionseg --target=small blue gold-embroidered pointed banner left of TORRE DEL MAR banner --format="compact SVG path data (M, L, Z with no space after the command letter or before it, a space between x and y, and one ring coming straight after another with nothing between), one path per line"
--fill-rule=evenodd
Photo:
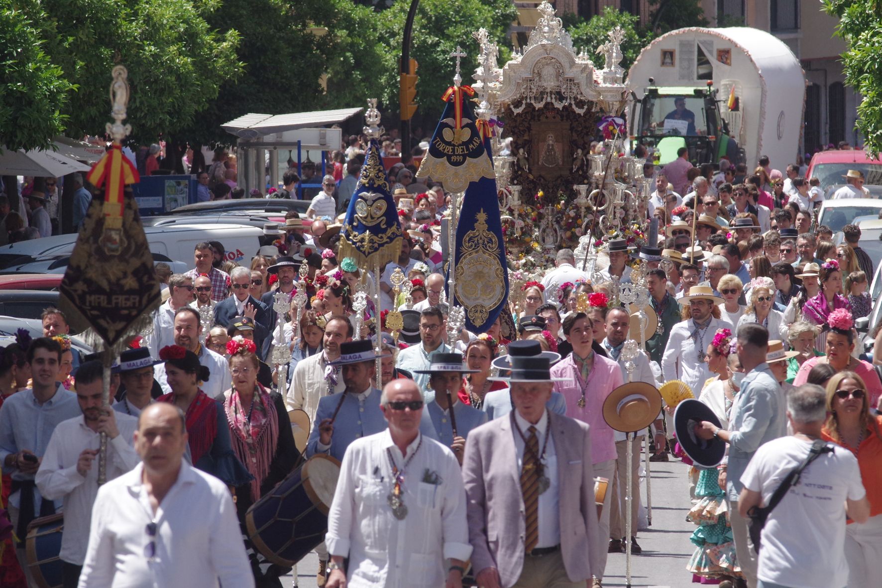
M387 261L398 261L402 238L379 143L370 139L362 175L340 230L338 258L352 257L360 267L373 270Z

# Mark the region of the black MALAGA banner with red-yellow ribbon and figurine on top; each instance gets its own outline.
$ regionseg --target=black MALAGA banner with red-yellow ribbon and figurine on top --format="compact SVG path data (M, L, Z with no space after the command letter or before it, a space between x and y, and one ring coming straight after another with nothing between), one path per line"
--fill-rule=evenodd
M135 323L161 303L153 254L128 187L138 182L138 171L119 148L131 128L122 124L129 99L126 77L117 65L111 85L116 124L108 124L114 145L88 175L94 185L104 186L104 197L93 197L59 287L59 306L71 327L93 328L108 347L133 334Z

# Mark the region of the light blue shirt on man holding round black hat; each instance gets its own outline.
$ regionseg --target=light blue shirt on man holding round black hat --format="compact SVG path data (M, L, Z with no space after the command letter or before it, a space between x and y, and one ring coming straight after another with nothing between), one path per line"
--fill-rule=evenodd
M744 376L729 415L729 471L726 497L737 501L741 475L759 446L787 434L787 407L781 385L763 362Z

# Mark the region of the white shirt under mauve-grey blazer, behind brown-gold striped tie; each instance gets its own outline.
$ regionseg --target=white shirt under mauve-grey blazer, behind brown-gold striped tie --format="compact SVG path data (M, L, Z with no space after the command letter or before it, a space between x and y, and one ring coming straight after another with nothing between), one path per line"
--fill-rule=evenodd
M545 449L545 456L542 464L545 465L545 471L542 475L549 479L548 490L539 494L539 540L536 547L555 547L560 545L560 488L557 476L557 453L554 449L554 436L549 432L549 412L548 409L542 412L542 418L535 425L520 416L518 411L514 413L515 423L520 427L520 432L524 433L524 437L529 439L528 430L531 426L536 427L536 438L539 441L539 453L542 455L545 443L548 443L548 449ZM511 418L511 417L508 417ZM514 428L514 427L512 427ZM518 432L512 431L514 436L514 452L518 458L518 478L520 471L524 467L524 449L526 443L520 438ZM548 441L546 441L548 440Z

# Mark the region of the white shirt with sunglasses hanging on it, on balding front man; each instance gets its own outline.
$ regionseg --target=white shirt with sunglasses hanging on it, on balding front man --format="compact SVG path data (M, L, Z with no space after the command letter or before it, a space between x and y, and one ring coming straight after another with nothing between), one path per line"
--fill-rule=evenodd
M143 472L138 464L99 488L78 588L254 588L227 486L182 461L153 514ZM144 550L152 521L157 529L151 561Z

